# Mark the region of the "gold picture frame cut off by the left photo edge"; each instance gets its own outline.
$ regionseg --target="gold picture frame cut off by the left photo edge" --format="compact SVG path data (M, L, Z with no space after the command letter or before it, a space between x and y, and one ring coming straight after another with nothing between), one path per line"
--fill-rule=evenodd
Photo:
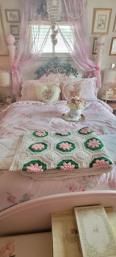
M1 8L0 8L0 56L8 56L8 49L7 49L6 40L4 37L3 25L2 25Z

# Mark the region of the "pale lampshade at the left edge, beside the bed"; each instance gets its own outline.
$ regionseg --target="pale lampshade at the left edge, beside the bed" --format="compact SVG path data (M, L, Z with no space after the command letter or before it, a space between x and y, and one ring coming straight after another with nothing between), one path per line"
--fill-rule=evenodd
M0 86L11 86L10 71L0 70Z

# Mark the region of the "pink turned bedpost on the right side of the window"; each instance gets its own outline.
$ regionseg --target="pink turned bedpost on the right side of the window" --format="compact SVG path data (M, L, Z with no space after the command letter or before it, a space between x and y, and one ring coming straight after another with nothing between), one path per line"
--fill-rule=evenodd
M97 38L97 55L96 55L96 58L95 58L95 63L99 67L101 67L101 61L102 61L102 54L103 54L105 39L106 39L105 35L100 35Z

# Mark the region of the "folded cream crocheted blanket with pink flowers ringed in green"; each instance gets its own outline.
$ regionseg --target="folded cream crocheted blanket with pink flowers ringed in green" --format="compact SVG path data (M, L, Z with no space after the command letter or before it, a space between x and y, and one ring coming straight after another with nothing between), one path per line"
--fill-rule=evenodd
M20 171L36 180L102 174L113 161L90 127L79 131L29 131L17 143L9 171Z

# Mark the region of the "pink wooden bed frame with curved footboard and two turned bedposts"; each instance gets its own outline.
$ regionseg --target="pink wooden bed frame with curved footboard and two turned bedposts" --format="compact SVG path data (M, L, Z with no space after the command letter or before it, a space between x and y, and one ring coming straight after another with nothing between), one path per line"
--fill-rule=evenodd
M15 38L6 37L9 61L15 56ZM98 37L95 62L101 66L105 36ZM116 191L89 191L41 197L12 206L0 213L0 236L51 229L51 213L73 210L74 206L102 204L116 210Z

